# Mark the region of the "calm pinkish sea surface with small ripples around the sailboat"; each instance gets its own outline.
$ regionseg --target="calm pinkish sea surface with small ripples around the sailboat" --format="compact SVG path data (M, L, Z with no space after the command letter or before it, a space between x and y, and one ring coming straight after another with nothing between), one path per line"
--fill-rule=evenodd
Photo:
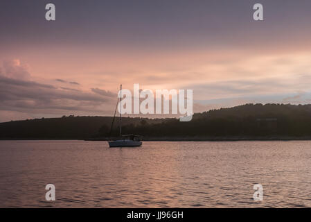
M0 141L0 207L311 207L310 171L310 141Z

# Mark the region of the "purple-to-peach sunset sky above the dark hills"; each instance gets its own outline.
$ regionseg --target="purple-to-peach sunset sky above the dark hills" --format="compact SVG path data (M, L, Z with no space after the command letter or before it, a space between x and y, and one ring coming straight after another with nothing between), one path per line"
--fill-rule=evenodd
M55 21L46 21L46 3ZM255 3L263 21L253 19ZM111 116L121 83L193 89L194 112L311 103L310 8L309 0L1 0L0 122Z

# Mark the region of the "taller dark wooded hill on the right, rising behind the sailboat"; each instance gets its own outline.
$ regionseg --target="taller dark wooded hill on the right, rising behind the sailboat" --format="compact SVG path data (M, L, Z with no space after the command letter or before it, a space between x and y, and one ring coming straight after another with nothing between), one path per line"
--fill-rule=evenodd
M152 125L129 125L123 132L145 139L311 139L311 105L239 105L197 113L190 122L170 119Z

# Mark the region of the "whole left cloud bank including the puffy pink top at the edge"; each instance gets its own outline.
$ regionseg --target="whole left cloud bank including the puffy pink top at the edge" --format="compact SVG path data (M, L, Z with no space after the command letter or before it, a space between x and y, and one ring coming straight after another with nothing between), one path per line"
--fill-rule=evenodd
M116 94L112 92L104 89L92 89L88 92L69 87L55 87L28 79L17 79L21 74L29 74L28 71L19 69L16 62L7 62L5 65L6 67L0 67L1 115L11 111L18 112L20 117L113 113ZM1 116L0 119L14 119L12 115L7 115L7 118Z

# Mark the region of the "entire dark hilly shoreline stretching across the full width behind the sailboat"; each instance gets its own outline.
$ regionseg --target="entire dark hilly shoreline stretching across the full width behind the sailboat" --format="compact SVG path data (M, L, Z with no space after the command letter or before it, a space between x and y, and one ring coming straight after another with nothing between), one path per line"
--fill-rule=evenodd
M311 139L311 105L246 104L194 114L193 120L123 117L123 134L144 139ZM0 139L105 139L112 117L63 117L0 123ZM112 135L118 135L118 119Z

